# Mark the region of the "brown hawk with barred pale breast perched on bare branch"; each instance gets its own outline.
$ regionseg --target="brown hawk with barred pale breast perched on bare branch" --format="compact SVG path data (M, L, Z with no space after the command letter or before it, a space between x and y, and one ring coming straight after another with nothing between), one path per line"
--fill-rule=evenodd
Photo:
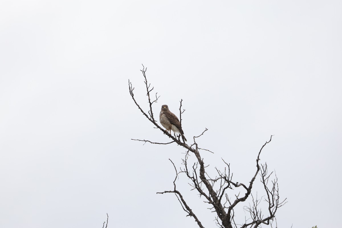
M163 127L166 128L167 131L170 131L170 134L171 130L174 133L180 133L182 135L183 140L186 141L179 119L176 117L176 115L170 112L169 107L167 105L161 106L159 121L161 125L163 125Z

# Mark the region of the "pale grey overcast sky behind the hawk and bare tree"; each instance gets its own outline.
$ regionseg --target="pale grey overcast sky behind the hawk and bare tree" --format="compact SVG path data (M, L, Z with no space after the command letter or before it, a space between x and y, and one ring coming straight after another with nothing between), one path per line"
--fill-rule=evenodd
M208 173L248 184L261 146L279 227L338 227L341 1L16 1L0 4L0 227L197 227L172 190L185 150L147 110L142 65L197 139ZM203 226L215 213L180 176ZM254 193L263 196L262 187ZM234 198L233 192L227 192ZM246 205L246 204L245 204ZM266 210L265 210L266 212ZM247 214L240 207L235 220Z

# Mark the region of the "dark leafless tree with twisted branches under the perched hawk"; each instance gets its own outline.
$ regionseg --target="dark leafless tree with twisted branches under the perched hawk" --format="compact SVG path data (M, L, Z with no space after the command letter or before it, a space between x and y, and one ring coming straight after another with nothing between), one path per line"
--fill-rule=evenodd
M154 103L158 101L159 96L157 96L157 93L153 96L151 95L151 92L153 91L154 87L151 88L151 85L147 82L146 78L146 69L143 66L143 69L141 70L144 77L144 83L146 86L146 92L147 92L147 98L148 98L148 104L149 104L149 110L145 112L141 106L136 102L136 99L133 94L134 87L132 86L132 83L128 81L129 85L129 92L130 95L135 103L135 105L140 109L140 111L143 113L143 115L155 125L155 128L158 128L161 130L164 134L166 134L169 138L172 139L169 143L157 143L157 142L151 142L150 140L141 140L141 139L132 139L132 140L138 140L142 141L144 143L152 143L152 144L170 144L170 143L176 143L182 147L184 147L187 152L185 154L185 158L182 159L182 168L177 171L176 166L171 161L174 169L175 169L175 179L173 181L174 188L169 191L163 191L163 192L157 192L157 194L164 194L164 193L174 193L179 200L179 202L182 205L183 210L187 213L187 216L191 216L195 219L196 223L199 227L203 228L203 225L200 222L200 219L196 216L194 211L190 208L190 206L186 203L184 197L182 196L181 192L176 189L176 179L180 174L185 174L186 177L189 179L189 184L193 187L192 190L197 190L200 196L203 196L206 199L206 203L210 204L210 209L212 209L214 212L216 212L216 225L218 227L222 228L257 228L260 227L260 225L271 225L271 227L277 227L276 224L276 217L275 214L277 212L277 209L281 206L283 206L286 202L285 200L280 200L279 198L279 189L278 189L278 179L277 176L274 174L275 178L272 179L271 176L273 176L273 172L268 173L267 170L267 164L259 164L260 160L260 154L262 149L266 146L266 144L270 143L272 140L272 135L268 141L261 147L257 160L256 160L256 170L254 175L251 178L251 181L249 184L245 185L238 182L233 182L233 173L230 169L230 164L225 162L223 159L223 162L225 164L224 171L220 171L219 169L215 168L216 176L215 178L210 178L206 168L208 166L205 166L203 159L200 155L200 150L204 150L198 147L198 144L196 143L196 138L202 136L208 129L205 129L200 135L193 137L193 144L187 145L185 142L182 142L180 140L180 135L175 136L169 134L168 131L164 130L155 120L152 106ZM181 115L184 112L182 111L182 100L180 101L180 121L182 121ZM209 150L207 150L209 151ZM210 151L211 152L211 151ZM190 154L194 154L196 157L196 162L194 165L189 165L188 158ZM252 187L254 184L255 179L257 178L257 175L260 175L260 181L264 188L264 194L265 197L258 198L258 196L252 195ZM216 184L218 183L218 184ZM240 189L240 192L231 199L228 195L229 189ZM240 196L241 195L241 196ZM244 206L245 212L249 214L249 218L245 218L245 221L242 222L242 224L238 224L234 219L234 208L236 205L238 205L240 202L246 201L248 197L252 198L252 203L250 203L248 206ZM267 212L263 213L261 210L260 203L261 201L266 202L266 206L268 207Z

